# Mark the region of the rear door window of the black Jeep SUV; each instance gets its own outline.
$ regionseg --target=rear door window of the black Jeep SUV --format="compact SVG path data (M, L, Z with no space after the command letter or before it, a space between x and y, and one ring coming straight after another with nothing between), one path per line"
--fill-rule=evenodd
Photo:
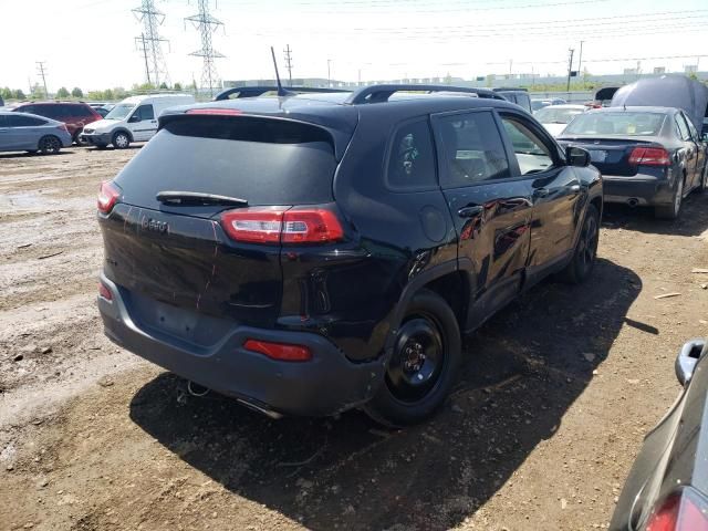
M490 112L442 116L437 127L444 188L510 177L503 142Z

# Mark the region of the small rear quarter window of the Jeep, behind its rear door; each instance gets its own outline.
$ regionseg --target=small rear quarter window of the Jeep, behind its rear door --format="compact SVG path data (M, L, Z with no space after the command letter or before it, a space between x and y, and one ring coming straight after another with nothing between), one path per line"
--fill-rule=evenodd
M433 135L426 118L408 122L396 131L388 154L387 179L394 189L437 186Z

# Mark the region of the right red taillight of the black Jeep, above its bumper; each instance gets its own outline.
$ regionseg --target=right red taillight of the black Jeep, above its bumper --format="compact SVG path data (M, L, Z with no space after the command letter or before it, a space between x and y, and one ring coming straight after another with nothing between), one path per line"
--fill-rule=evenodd
M223 212L221 225L230 238L253 243L329 243L344 237L336 215L324 208L240 208Z

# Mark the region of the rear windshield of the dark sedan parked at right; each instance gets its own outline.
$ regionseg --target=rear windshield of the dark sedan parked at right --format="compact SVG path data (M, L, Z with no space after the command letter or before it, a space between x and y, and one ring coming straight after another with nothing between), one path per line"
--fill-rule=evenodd
M563 135L656 136L664 119L658 113L587 113L576 116Z

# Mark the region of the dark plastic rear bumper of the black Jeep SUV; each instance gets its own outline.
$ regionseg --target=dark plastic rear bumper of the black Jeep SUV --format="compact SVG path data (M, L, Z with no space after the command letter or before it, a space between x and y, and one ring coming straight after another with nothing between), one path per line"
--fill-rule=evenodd
M113 301L98 298L105 334L113 342L175 374L262 413L326 416L367 402L383 379L383 363L355 364L325 337L235 325L209 347L143 330L131 317L117 285L101 275ZM248 339L308 346L309 362L279 362L243 348Z

